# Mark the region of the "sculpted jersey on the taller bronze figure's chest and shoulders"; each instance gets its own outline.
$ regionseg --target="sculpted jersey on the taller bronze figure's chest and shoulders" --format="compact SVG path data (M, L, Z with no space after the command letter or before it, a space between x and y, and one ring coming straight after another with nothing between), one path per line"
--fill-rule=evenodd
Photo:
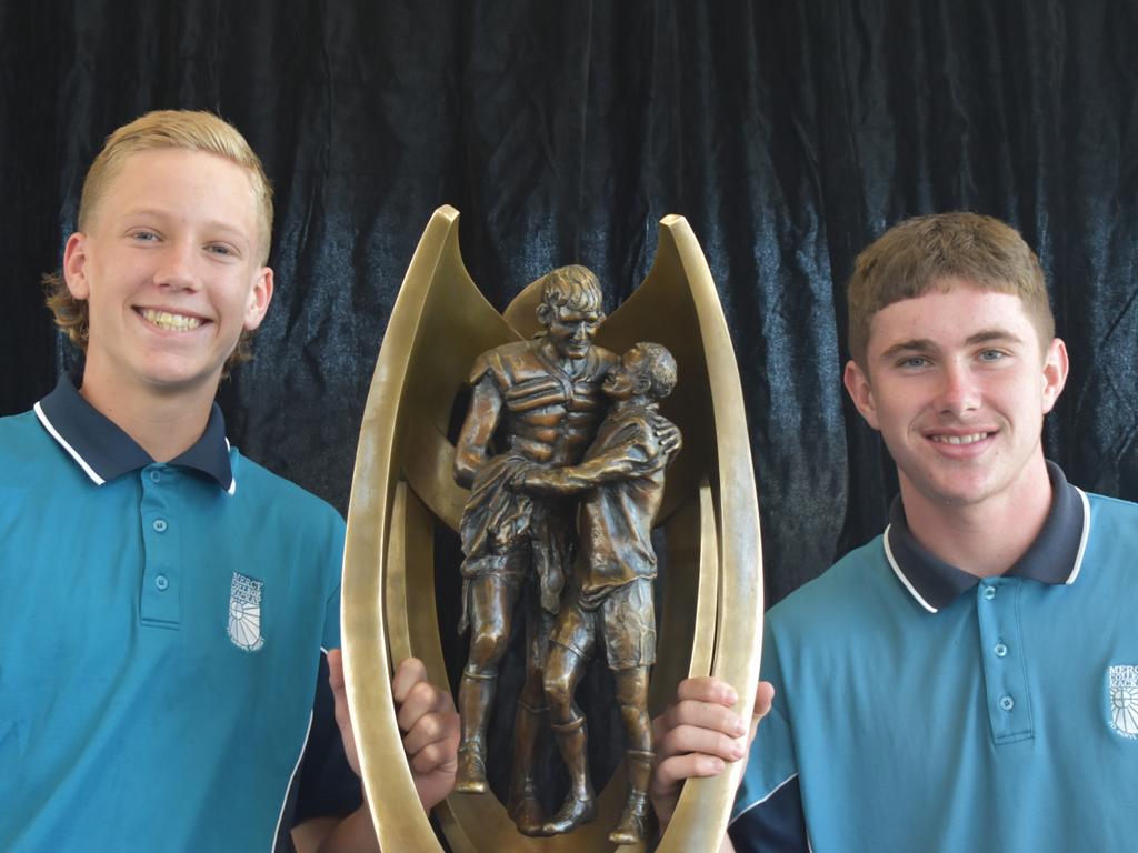
M583 361L570 375L544 356L541 339L505 343L478 356L470 382L493 378L512 450L531 462L571 465L593 440L607 407L601 381L617 359L593 347Z

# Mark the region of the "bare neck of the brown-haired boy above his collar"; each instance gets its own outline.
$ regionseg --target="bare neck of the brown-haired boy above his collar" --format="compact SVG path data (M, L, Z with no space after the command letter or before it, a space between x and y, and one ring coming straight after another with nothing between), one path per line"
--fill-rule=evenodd
M900 483L913 537L946 563L979 578L1011 569L1039 536L1052 508L1041 449L1013 488L975 504L930 500L904 474Z

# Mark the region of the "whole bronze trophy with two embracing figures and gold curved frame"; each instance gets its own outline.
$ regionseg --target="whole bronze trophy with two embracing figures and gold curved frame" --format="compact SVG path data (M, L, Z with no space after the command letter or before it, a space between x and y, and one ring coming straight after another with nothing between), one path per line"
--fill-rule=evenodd
M436 596L461 596L457 790L436 809L448 846L643 850L649 712L687 674L732 682L736 710L758 679L758 506L726 323L682 217L661 223L652 271L608 318L580 266L543 276L500 315L462 264L457 218L440 208L420 240L356 456L343 630L366 796L385 848L442 850L417 806L387 676L414 654L436 684L450 681L440 630L454 627L440 628ZM448 436L464 389L465 419ZM659 635L654 525L668 565ZM462 545L461 566L439 575L453 587L438 590L437 529ZM503 707L495 694L511 631L525 635L525 676L516 707ZM625 760L597 796L575 694L599 644ZM495 713L513 721L512 761L487 750ZM551 814L534 757L546 731L569 777ZM511 765L505 802L487 782L487 765L501 762ZM714 848L733 781L690 781L659 848Z

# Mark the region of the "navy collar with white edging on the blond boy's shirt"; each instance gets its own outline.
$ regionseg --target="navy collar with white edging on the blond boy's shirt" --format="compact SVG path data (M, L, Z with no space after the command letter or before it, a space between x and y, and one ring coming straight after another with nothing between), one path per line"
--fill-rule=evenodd
M134 439L80 396L69 373L64 373L56 390L35 404L35 415L97 486L154 464ZM233 494L237 481L229 464L225 419L216 403L201 438L168 464L200 471Z

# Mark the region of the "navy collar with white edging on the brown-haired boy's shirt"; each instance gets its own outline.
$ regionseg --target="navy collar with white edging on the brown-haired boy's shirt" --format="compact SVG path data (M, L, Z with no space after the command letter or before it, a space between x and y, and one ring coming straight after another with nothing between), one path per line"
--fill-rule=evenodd
M1059 466L1047 463L1052 481L1052 508L1036 541L1005 577L1030 578L1041 583L1073 583L1082 565L1090 531L1087 496L1066 481ZM980 578L957 569L925 549L909 532L900 497L889 511L884 536L885 557L909 594L930 613L951 604L972 589Z

